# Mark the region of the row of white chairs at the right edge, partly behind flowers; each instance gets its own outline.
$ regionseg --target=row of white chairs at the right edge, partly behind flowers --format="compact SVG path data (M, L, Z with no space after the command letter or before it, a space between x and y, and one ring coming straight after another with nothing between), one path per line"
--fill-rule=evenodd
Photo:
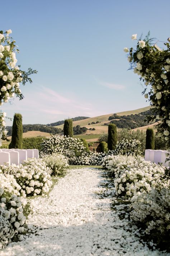
M166 161L168 157L168 151L166 150L153 150L146 149L145 150L145 161L151 161L154 163L162 163L165 167L169 167L170 161Z

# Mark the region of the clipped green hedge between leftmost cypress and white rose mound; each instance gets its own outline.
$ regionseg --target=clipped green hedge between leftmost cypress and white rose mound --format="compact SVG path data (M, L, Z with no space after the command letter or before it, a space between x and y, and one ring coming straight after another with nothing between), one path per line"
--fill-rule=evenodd
M42 142L46 137L33 137L23 139L23 149L33 149L36 148L42 151Z

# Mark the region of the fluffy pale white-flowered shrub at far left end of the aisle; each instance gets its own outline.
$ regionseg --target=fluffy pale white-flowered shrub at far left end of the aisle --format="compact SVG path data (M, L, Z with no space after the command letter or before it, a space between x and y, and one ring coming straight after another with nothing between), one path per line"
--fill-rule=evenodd
M67 167L69 166L67 158L57 153L44 155L43 161L52 170L51 175L53 176L66 174Z

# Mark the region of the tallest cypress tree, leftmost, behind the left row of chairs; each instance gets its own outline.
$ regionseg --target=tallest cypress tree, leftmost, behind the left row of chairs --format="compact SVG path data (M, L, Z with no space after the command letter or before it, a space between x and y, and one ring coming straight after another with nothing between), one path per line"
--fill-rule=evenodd
M13 128L12 128L12 138L9 148L19 148L22 149L22 139L23 139L23 125L22 125L22 115L19 113L14 114Z

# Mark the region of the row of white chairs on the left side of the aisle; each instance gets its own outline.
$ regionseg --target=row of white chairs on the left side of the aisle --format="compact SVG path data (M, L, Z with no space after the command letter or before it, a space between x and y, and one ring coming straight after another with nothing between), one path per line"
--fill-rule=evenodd
M0 165L19 165L27 158L39 157L38 149L0 149Z

